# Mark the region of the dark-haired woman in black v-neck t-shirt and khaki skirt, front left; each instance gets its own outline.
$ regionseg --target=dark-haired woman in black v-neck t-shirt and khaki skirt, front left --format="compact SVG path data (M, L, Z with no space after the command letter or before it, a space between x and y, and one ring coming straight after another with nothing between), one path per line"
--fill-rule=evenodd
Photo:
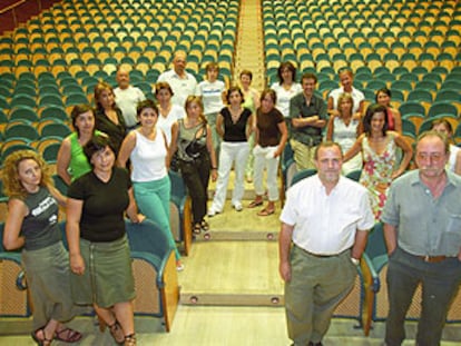
M94 306L115 340L136 345L131 300L135 284L124 214L140 223L128 171L114 167L110 139L92 137L84 147L92 170L68 190L67 240L73 301Z

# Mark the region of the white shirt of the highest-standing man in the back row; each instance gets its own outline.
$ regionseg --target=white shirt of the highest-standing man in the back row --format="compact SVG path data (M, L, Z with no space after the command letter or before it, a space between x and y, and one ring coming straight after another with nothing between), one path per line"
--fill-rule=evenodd
M197 95L197 80L189 72L186 72L185 78L180 78L174 69L170 69L163 72L158 77L157 82L158 81L166 81L169 83L174 93L171 102L174 105L178 105L179 107L184 108L186 99L189 95Z

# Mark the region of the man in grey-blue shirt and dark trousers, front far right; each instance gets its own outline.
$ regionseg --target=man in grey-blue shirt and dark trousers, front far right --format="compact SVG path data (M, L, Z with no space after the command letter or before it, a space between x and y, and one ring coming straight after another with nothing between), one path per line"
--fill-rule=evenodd
M405 338L404 319L422 285L416 345L440 345L461 281L461 178L445 169L447 138L424 132L416 144L416 170L390 188L382 221L389 254L388 346Z

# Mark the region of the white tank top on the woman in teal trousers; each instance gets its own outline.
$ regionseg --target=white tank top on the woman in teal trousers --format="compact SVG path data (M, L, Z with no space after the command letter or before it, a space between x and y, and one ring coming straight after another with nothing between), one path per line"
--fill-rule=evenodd
M164 132L157 129L154 140L146 138L139 131L135 134L136 146L129 156L133 166L131 180L153 181L164 178L167 175Z

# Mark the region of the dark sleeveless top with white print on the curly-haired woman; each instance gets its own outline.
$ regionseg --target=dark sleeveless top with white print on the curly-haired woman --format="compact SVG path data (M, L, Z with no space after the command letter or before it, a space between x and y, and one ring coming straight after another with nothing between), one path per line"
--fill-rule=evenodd
M58 204L46 187L38 192L29 194L23 200L29 209L21 226L24 236L24 248L38 250L61 240L58 226Z

